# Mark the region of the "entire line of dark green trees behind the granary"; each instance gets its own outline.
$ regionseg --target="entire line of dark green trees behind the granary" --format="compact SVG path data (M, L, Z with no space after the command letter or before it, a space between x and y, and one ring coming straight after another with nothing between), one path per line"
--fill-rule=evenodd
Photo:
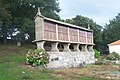
M42 15L81 27L89 27L94 31L95 49L107 54L107 44L120 39L120 14L100 26L92 19L81 15L63 20L58 0L0 0L0 42L15 43L17 41L32 44L35 39L34 16L40 7Z

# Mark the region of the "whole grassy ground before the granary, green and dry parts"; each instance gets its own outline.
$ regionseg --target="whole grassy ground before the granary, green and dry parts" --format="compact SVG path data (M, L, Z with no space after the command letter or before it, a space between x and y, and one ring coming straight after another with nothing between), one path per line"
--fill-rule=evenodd
M32 68L25 64L25 54L34 48L0 44L0 80L106 80L108 71L119 70L111 65L57 70ZM104 72L100 73L101 70Z

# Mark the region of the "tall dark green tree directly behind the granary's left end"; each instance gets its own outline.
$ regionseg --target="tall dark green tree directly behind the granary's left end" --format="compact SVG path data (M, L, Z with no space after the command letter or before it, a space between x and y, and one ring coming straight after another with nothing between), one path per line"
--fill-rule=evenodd
M1 0L5 5L9 5L8 10L11 13L11 31L19 31L22 41L28 34L29 40L34 40L34 16L37 8L40 7L42 15L59 20L57 14L60 11L58 0ZM6 21L5 21L6 22ZM5 23L6 24L6 23ZM5 28L7 29L7 28ZM31 29L33 29L31 31ZM16 32L17 32L16 31ZM6 33L7 32L3 32ZM13 34L11 32L10 34Z

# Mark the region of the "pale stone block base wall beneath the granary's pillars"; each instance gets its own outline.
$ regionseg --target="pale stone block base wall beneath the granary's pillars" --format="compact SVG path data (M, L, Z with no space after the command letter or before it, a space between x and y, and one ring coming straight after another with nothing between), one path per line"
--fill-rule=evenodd
M95 63L94 52L48 52L48 68L70 68Z

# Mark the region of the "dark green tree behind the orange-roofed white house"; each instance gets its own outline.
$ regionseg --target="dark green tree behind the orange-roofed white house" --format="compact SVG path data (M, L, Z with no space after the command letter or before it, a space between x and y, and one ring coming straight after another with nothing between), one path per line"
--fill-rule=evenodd
M120 39L120 13L106 24L103 30L104 49L108 53L107 44Z

